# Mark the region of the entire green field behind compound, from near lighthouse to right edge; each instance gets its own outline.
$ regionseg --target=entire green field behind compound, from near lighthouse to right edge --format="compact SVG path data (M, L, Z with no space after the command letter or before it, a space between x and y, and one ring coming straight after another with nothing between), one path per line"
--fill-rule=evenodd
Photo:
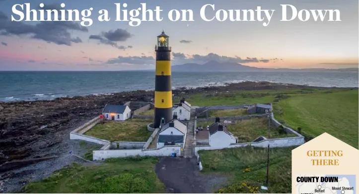
M324 132L358 148L358 90L302 89L194 94L196 106L273 102L275 118L307 136Z

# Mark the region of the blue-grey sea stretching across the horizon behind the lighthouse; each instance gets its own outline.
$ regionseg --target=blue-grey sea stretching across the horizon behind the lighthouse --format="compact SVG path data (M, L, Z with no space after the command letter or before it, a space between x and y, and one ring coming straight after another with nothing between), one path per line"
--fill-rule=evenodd
M0 71L0 101L154 90L154 78L154 71ZM245 81L347 88L358 87L358 72L172 72L174 89Z

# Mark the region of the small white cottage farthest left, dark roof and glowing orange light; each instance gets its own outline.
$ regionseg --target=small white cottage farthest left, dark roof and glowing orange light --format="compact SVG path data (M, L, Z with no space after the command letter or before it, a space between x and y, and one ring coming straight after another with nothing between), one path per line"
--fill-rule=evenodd
M126 105L106 104L102 115L106 120L124 121L131 117L131 109Z

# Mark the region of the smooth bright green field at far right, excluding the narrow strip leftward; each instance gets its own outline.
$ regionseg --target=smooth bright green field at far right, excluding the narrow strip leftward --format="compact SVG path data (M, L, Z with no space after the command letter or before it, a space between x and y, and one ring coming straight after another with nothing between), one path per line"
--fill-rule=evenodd
M274 104L278 120L313 137L326 132L358 148L358 90L293 96Z

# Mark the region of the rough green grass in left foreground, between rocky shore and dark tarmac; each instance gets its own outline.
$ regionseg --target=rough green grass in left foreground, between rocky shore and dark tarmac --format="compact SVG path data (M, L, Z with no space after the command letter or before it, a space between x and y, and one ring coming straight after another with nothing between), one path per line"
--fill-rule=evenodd
M109 159L103 164L72 164L50 177L29 183L22 193L164 193L154 172L158 158Z

